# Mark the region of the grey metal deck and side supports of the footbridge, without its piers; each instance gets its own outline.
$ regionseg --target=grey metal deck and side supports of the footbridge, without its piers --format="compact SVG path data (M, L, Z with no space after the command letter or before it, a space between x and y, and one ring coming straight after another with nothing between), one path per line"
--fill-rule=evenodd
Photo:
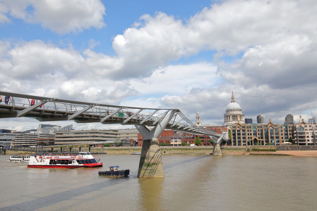
M30 117L38 121L66 121L77 123L100 122L102 124L143 125L155 127L163 121L169 111L166 128L196 135L220 138L221 134L196 126L179 109L139 108L107 105L101 103L62 100L42 96L24 95L0 91L0 95L10 96L8 105L0 103L0 118ZM36 103L30 105L31 100Z

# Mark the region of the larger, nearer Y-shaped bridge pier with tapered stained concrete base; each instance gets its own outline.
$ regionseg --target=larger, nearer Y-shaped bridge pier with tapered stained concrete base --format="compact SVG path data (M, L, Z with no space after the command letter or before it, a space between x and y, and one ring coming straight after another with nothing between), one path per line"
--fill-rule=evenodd
M152 130L143 125L135 125L143 137L138 177L165 177L158 138L174 114L174 110L169 111Z

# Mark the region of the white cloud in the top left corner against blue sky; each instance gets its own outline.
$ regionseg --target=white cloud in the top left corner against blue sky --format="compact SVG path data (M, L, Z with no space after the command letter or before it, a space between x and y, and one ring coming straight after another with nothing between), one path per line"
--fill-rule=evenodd
M32 11L27 9L33 7ZM6 9L8 8L8 9ZM102 28L105 6L100 0L3 0L0 4L0 22L8 22L5 14L29 23L40 23L43 28L49 28L58 34L77 33L89 28Z

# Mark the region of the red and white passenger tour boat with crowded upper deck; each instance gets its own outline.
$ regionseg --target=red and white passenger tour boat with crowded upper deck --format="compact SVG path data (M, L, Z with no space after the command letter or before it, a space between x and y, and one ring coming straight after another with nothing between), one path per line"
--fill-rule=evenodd
M101 167L102 165L103 163L94 158L90 152L79 152L76 155L30 156L28 167L75 169Z

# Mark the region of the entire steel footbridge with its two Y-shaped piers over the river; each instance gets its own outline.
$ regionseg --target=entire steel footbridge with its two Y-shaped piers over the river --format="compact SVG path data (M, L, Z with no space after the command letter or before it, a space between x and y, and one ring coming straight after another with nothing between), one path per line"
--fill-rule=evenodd
M29 117L38 121L135 125L143 137L138 177L164 177L158 138L165 128L196 135L208 135L214 142L213 155L221 155L223 134L196 126L179 109L139 108L79 102L0 91L10 96L0 103L0 118ZM4 97L3 97L4 99ZM31 105L31 101L35 104ZM149 129L152 128L152 129Z

